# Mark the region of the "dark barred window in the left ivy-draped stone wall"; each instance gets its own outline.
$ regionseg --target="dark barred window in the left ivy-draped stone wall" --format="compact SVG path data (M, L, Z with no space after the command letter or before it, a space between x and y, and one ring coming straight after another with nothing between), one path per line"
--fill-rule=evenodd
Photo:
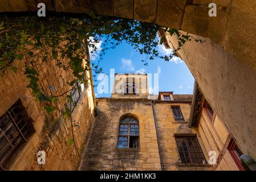
M21 100L15 102L0 117L0 169L17 151L19 144L26 142L27 137L34 131L31 119L27 115Z

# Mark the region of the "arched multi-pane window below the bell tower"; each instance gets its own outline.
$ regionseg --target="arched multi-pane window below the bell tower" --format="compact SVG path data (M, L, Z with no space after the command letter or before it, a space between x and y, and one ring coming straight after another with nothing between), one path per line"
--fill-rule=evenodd
M139 121L127 115L120 120L118 148L139 147Z

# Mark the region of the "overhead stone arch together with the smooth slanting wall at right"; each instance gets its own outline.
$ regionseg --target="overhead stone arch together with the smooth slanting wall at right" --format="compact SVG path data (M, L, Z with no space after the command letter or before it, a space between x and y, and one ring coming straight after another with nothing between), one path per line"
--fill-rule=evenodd
M217 16L210 17L209 3ZM237 143L256 160L256 1L46 1L49 11L91 13L143 20L189 33L203 44L187 42L178 55L200 85ZM34 12L38 1L0 1L0 12ZM147 8L145 8L147 7ZM246 19L246 21L245 21ZM234 28L235 27L235 28ZM178 47L177 37L168 44Z

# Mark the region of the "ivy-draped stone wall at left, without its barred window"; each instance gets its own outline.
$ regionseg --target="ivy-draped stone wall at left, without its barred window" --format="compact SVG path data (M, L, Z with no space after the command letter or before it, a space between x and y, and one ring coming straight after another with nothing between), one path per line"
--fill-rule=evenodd
M35 69L39 73L39 86L48 96L56 96L70 89L67 82L73 76L71 71L63 71L56 66L56 61L48 56L43 62L37 58ZM78 106L72 112L73 126L70 119L63 118L59 111L47 114L43 109L43 102L37 101L32 95L29 84L24 75L26 60L16 61L17 73L8 71L0 77L0 115L5 113L17 100L21 100L27 114L32 119L35 132L23 143L7 162L5 169L11 170L74 170L77 168L80 155L87 143L91 125L94 121L94 94L89 85L86 86L79 99ZM67 63L63 60L63 63ZM90 73L87 72L87 76ZM90 79L88 79L90 82ZM54 90L50 88L54 87ZM59 97L54 105L59 109L66 107L66 94ZM76 126L74 126L76 125ZM72 139L74 130L74 143ZM37 152L46 151L46 165L37 164Z

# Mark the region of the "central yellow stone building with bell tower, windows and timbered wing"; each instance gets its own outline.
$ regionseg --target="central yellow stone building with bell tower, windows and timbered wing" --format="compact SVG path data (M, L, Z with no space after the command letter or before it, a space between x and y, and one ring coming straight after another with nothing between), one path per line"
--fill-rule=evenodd
M192 95L173 92L151 96L147 74L115 75L111 97L96 99L97 117L80 169L239 169L228 149L229 131L216 114L209 121L210 106L198 89L195 93L193 102ZM210 151L216 152L214 165L208 162Z

